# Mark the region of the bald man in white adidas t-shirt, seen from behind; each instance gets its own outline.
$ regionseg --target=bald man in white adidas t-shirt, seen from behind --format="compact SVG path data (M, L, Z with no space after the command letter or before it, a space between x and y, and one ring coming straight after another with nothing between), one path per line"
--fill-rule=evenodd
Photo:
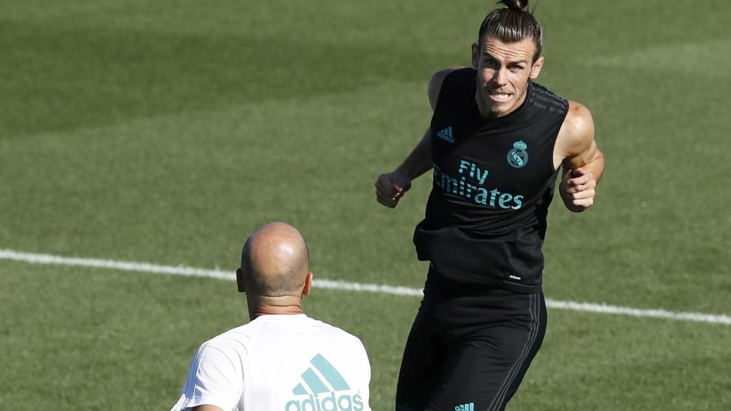
M371 366L357 337L303 313L312 273L290 225L260 227L236 271L251 322L198 348L171 411L370 411Z

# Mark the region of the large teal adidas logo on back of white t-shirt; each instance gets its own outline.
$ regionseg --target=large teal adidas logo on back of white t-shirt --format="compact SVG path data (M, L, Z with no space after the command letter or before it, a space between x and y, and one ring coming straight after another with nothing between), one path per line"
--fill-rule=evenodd
M311 360L311 367L300 375L302 382L292 388L295 396L284 411L362 411L363 397L352 395L350 385L338 370L320 354ZM343 392L346 391L346 392Z

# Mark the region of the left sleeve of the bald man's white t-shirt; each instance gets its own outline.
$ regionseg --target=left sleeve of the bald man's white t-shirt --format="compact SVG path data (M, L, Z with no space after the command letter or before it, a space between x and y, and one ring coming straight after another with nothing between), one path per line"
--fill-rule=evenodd
M183 411L199 405L215 405L230 411L238 406L243 392L241 358L227 354L206 342L198 348L178 403L170 411Z

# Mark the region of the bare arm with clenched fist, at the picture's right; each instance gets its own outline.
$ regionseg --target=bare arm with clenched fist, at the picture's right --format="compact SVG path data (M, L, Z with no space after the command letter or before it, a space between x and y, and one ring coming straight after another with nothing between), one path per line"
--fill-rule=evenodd
M558 133L554 165L564 168L558 192L574 212L594 204L596 183L604 173L604 154L594 140L594 120L589 110L569 102L569 113Z

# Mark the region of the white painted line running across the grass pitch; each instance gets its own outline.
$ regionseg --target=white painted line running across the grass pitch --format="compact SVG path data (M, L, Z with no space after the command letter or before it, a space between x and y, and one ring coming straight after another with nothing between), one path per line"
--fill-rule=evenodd
M61 257L50 254L33 254L16 252L10 249L0 249L0 260L12 260L31 264L71 265L76 267L109 268L118 271L136 271L140 273L171 274L175 276L194 276L213 279L233 280L236 278L232 271L206 270L203 268L186 267L183 265L157 265L150 263L135 263L131 261L99 260L94 258ZM362 284L341 280L316 279L313 287L329 290L345 290L360 293L377 293L421 297L420 288L395 287L385 284ZM731 325L731 316L725 314L704 314L701 312L672 312L664 309L634 309L622 306L610 306L596 303L577 303L575 301L557 301L546 299L546 306L550 309L567 309L578 312L596 312L602 314L629 315L632 317L664 318L676 321L692 321L696 323L712 323Z

